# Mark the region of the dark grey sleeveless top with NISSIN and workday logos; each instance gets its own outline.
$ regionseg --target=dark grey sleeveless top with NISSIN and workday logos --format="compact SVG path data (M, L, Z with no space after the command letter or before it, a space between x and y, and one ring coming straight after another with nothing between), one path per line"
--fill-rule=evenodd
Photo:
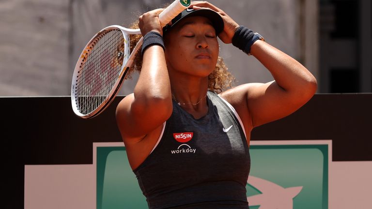
M155 148L133 170L150 209L249 209L250 156L228 102L207 92L208 113L194 117L173 102Z

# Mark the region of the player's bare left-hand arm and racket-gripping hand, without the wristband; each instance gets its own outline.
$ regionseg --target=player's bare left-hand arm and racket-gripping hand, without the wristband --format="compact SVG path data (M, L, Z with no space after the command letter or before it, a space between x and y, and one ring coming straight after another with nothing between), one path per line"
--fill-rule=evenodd
M151 11L140 17L142 35L150 30L161 34L157 15ZM143 54L140 77L134 93L125 97L116 110L119 129L126 143L137 143L171 116L171 87L164 50L148 47Z

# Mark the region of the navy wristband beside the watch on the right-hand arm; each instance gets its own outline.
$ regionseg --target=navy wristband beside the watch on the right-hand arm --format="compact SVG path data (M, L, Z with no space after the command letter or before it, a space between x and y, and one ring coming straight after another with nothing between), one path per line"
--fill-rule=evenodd
M255 33L252 30L240 26L234 33L232 44L250 55L250 47L259 39L259 37L254 34Z

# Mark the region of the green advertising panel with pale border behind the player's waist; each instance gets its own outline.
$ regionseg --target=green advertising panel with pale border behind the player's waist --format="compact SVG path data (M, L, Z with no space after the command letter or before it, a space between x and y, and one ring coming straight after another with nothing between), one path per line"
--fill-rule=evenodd
M123 143L94 143L97 209L147 209ZM252 141L250 209L328 209L331 141Z

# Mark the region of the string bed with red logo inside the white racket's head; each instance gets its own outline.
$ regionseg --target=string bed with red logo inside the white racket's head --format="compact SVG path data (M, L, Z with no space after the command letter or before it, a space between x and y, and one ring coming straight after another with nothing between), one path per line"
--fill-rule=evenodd
M125 55L119 60L118 49L123 48L124 41L120 30L110 30L90 46L77 81L78 109L82 114L93 112L109 96L122 69Z

